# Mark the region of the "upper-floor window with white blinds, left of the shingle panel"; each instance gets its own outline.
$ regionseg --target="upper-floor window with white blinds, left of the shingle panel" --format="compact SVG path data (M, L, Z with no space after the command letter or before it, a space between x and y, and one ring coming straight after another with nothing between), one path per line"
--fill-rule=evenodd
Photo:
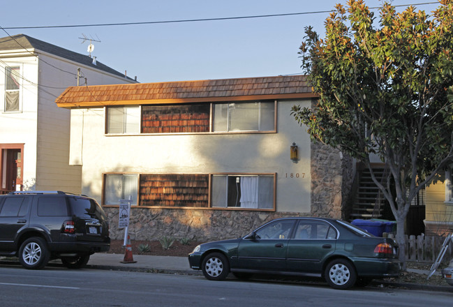
M140 107L108 107L107 133L140 133Z

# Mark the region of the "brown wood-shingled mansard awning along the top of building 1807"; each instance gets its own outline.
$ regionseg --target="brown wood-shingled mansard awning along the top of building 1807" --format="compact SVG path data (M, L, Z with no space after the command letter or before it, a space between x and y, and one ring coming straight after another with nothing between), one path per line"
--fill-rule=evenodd
M305 75L68 87L59 107L315 98Z

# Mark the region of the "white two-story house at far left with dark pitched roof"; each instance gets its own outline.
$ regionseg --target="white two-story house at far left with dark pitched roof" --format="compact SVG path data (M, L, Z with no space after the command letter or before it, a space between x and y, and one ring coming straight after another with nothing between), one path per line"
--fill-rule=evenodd
M0 193L80 193L82 170L69 165L69 110L54 100L69 86L135 83L131 78L23 34L0 38Z

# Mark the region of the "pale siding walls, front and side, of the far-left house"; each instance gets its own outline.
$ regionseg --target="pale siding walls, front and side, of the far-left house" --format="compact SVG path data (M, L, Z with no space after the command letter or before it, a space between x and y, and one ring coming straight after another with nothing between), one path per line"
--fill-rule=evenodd
M1 59L0 144L24 144L25 187L80 193L82 169L69 165L70 111L57 107L55 98L67 87L77 85L75 75L79 67L89 85L132 81L38 50L36 54L38 57ZM3 112L5 66L20 66L20 112ZM84 84L84 79L81 82Z

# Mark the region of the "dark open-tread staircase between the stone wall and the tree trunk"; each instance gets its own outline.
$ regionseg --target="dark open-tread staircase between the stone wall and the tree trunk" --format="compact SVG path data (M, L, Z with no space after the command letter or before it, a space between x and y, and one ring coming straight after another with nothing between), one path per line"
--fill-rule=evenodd
M373 167L376 179L382 182L386 172L384 167ZM352 204L350 220L355 218L370 219L382 218L383 208L385 205L385 197L380 192L379 188L371 179L371 173L368 168L363 168L358 171L358 184L355 193L355 200Z

